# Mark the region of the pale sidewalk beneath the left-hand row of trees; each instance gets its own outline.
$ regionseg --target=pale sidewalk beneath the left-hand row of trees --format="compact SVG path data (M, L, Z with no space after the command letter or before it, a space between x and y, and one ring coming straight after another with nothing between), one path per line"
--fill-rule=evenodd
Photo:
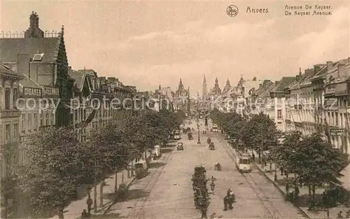
M149 155L150 154L147 153L147 156ZM130 162L128 169L118 172L117 174L118 188L119 188L119 185L122 183L130 185L134 181L134 178L135 178L134 170L132 171L131 167L132 167L132 162ZM102 183L99 183L97 185L97 211L96 212L94 211L94 204L92 204L92 210L91 210L92 214L94 213L102 214L104 213L104 211L106 211L106 209L108 209L113 204L116 174L112 174L111 176L109 176L109 178L106 178L105 182L106 184L103 186L102 203L100 202L100 197L101 197L100 188ZM92 188L90 194L91 194L92 201L94 202L94 188ZM83 209L87 210L87 204L86 204L87 196L88 195L86 194L84 197L78 200L72 201L69 204L69 206L66 206L66 208L64 209L64 219L80 218ZM58 219L58 216L56 215L50 219Z

